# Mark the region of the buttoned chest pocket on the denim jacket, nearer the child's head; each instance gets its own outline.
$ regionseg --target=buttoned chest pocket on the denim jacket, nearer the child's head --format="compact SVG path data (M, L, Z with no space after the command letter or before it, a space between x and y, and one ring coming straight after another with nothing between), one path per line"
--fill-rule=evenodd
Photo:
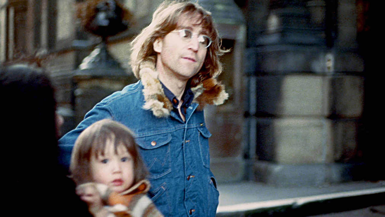
M170 134L136 138L139 151L152 179L171 172Z

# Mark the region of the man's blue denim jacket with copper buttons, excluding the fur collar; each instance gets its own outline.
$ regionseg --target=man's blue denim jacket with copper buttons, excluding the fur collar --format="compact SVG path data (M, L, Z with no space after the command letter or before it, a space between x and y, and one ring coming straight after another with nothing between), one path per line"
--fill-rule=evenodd
M142 90L141 81L131 84L90 110L75 130L59 140L62 150L67 151L62 153L62 161L68 162L72 150L68 145L73 145L87 126L100 119L113 119L136 134L139 151L150 172L148 195L165 216L214 217L219 192L210 171L211 134L203 111L196 111L198 104L192 103L186 109L185 123L174 111L169 118L156 118L152 111L142 108Z

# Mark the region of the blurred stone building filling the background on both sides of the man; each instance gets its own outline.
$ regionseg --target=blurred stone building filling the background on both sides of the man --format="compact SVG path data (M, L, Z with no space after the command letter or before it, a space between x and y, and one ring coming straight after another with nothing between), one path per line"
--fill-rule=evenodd
M63 135L105 96L136 82L127 63L129 42L162 0L118 1L132 19L105 43L84 30L79 2L0 0L0 62L44 59L57 87ZM205 109L219 183L322 186L385 179L384 143L377 140L374 1L199 3L211 11L222 46L231 49L221 57L219 76L229 100Z

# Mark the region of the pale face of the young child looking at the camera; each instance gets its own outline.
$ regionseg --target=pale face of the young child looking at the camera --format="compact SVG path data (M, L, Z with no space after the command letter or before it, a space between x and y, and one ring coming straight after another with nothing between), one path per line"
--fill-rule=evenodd
M90 170L94 182L108 185L118 193L134 182L134 161L124 145L119 145L115 154L113 140L106 141L104 156L91 154Z

